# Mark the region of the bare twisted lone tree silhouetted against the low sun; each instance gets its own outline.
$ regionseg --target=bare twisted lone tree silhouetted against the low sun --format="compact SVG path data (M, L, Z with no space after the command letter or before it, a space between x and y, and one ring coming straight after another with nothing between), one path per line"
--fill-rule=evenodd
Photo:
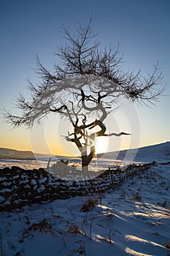
M82 157L82 169L85 170L88 170L95 154L95 138L128 135L125 132L106 133L104 119L115 109L117 99L123 96L133 102L138 100L147 104L158 99L163 91L158 64L147 77L143 77L140 71L124 72L119 45L101 50L92 23L91 15L85 26L79 23L75 35L63 26L66 45L55 53L57 62L53 64L53 72L46 69L36 56L35 72L40 80L38 85L28 80L31 100L20 94L16 105L22 115L4 113L14 127L31 127L50 113L69 118L73 131L71 134L68 132L65 138L76 144Z

